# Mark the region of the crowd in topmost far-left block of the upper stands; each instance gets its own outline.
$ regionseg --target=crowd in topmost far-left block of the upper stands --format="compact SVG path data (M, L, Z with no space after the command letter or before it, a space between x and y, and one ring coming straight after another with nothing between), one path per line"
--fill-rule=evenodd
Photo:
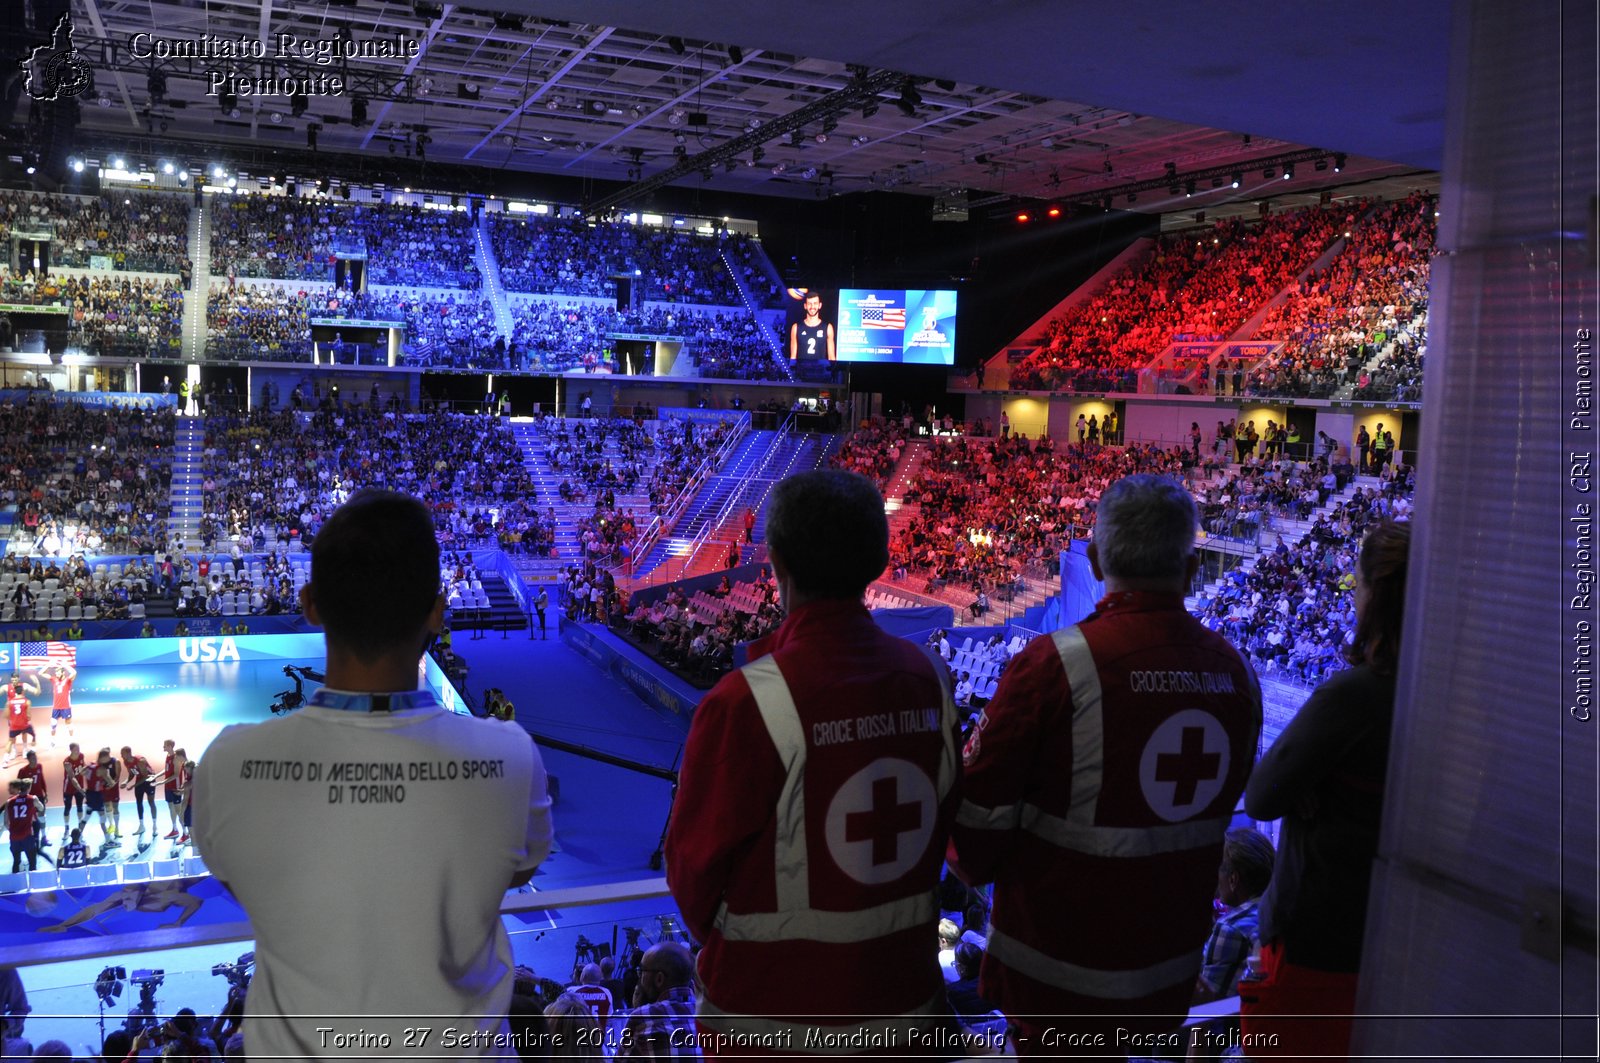
M118 271L179 274L189 269L187 195L48 195L0 189L0 237L38 229L51 232L51 261L40 266L88 269L94 258L107 258ZM29 266L24 263L24 271Z

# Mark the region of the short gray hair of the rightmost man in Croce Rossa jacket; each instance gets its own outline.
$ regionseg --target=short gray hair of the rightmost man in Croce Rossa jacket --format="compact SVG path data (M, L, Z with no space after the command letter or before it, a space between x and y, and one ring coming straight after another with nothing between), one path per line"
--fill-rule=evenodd
M1107 584L1182 588L1195 559L1200 514L1174 479L1141 472L1101 493L1090 560Z

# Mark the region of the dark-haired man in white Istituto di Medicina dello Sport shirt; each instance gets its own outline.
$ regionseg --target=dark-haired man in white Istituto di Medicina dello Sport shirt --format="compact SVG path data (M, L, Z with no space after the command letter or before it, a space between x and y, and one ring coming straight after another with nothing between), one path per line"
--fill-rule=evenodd
M414 1017L454 1021L462 1055L493 1052L512 986L499 905L550 850L539 752L418 690L445 599L414 498L362 490L334 511L301 607L323 628L326 685L224 728L194 781L195 844L256 930L246 1050L326 1057L318 1026L349 1031L304 1017L350 1015L389 1057L440 1050L406 1042Z

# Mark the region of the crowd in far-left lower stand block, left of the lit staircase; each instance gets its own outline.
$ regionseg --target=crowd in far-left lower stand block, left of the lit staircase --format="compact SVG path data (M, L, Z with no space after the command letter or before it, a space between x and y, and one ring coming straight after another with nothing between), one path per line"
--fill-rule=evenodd
M171 511L173 410L0 403L0 501L14 552L146 552Z

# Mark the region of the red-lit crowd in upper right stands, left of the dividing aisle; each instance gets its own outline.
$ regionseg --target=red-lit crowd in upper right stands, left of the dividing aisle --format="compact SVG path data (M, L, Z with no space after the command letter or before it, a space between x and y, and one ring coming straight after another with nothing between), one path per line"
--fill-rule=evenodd
M1104 291L1050 322L1011 367L1011 387L1133 389L1134 373L1174 339L1238 328L1354 223L1350 208L1306 208L1261 223L1224 221L1205 235L1162 237Z

